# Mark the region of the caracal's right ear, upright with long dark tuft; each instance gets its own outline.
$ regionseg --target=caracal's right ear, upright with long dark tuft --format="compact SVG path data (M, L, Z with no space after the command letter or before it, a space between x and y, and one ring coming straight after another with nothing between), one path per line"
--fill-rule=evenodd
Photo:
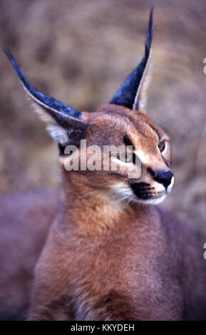
M146 100L146 91L149 83L149 66L151 55L151 44L153 40L153 8L150 11L147 39L145 43L145 56L135 70L126 78L123 85L115 93L110 103L123 105L132 110L143 108Z

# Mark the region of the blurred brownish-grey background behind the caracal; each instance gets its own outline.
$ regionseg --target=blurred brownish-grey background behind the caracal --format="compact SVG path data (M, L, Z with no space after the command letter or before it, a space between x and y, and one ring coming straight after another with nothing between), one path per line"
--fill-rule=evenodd
M142 58L153 4L148 111L172 138L176 176L162 206L205 239L205 0L1 0L1 43L39 91L93 111L110 100ZM1 195L57 187L58 150L3 52L0 76Z

